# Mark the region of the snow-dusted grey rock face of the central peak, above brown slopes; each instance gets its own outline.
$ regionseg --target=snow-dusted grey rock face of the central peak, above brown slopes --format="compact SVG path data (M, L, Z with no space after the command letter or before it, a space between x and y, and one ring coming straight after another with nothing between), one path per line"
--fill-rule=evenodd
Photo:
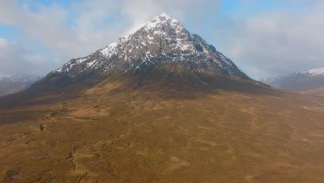
M141 76L156 71L205 73L250 80L235 64L199 35L172 17L161 14L87 57L72 59L45 80L66 83L82 78L105 78L114 73Z

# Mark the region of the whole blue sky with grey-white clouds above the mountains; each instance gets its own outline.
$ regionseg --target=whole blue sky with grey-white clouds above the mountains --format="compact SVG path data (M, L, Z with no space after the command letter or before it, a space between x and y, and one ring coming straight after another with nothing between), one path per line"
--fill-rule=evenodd
M0 76L46 75L165 12L256 80L324 67L324 0L0 0Z

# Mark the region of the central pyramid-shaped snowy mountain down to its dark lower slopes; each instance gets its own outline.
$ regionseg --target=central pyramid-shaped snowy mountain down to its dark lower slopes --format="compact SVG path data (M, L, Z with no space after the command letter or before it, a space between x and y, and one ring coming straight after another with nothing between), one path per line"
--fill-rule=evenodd
M3 100L10 101L8 106L34 103L34 97L48 93L61 99L73 98L101 82L123 82L133 89L152 84L184 90L262 89L261 83L246 76L214 46L176 19L161 14L105 48L71 59L17 97Z

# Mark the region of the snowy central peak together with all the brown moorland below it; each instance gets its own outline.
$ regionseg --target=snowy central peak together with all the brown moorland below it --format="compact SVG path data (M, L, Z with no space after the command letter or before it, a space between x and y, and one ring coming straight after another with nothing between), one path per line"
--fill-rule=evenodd
M323 182L323 110L162 14L0 98L0 182Z

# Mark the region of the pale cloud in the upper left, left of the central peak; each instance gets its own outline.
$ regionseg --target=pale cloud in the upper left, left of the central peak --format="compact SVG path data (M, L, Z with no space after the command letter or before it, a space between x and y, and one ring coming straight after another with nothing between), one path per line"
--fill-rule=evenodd
M25 2L24 7L29 7L27 3L28 1ZM75 24L69 26L71 12L68 9L56 4L34 6L37 6L36 12L28 8L19 8L15 1L3 1L0 10L0 23L21 28L25 40L42 44L53 51L52 55L58 57L75 57L87 54L90 52L90 46L96 46L91 43L100 43L99 40L109 36L111 30L118 31L117 28L109 31L109 28L103 27L107 28L106 34L102 33L103 28L100 28L99 34L91 32L94 29L93 26L98 24L96 20L105 17L105 15L100 15L102 11L98 9L89 8L83 12L82 6L73 7L79 8L80 12L74 20ZM91 40L93 41L91 42ZM93 47L91 51L93 51Z

